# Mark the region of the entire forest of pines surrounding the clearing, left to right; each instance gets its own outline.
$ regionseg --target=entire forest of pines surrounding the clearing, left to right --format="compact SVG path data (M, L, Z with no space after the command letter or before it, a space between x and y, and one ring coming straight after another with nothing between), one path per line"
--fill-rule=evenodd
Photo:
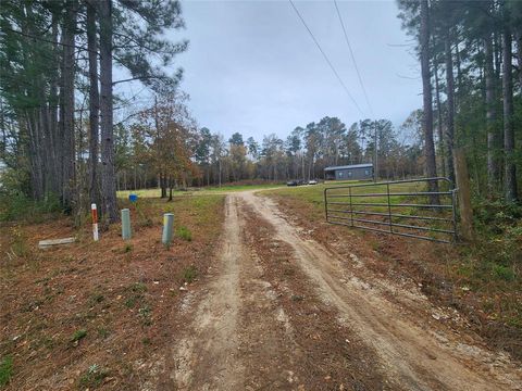
M256 140L241 129L219 129L233 134L225 139L191 114L183 70L174 65L189 42L163 34L184 27L179 2L2 1L5 211L36 203L76 214L97 202L111 223L117 190L160 187L167 197L191 186L322 178L328 165L371 162L383 180L438 175L455 182L455 149L465 154L476 200L517 202L522 2L398 5L420 62L422 108L398 126L386 118L324 116L296 124L286 138L268 129ZM116 79L113 68L128 78ZM145 104L114 92L135 81L152 97Z

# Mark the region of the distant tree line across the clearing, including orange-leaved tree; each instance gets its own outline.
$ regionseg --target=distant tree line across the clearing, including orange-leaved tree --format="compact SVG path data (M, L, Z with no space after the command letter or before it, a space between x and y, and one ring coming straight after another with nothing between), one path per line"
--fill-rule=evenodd
M296 127L285 139L269 134L256 140L236 131L226 140L207 127L197 127L185 94L159 101L164 103L154 102L133 124L116 130L119 189L160 187L166 197L167 190L187 186L323 178L326 166L375 161L382 179L423 175L419 111L398 129L389 119L366 118L347 127L339 118L325 116ZM157 122L165 104L177 109L169 110L167 121ZM166 136L169 124L183 142Z

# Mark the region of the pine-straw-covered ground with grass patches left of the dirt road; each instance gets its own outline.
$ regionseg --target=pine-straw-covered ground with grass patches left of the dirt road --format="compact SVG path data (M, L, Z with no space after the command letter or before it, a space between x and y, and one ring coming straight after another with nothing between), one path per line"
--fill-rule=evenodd
M92 242L70 217L0 226L0 388L134 390L153 376L158 353L176 339L179 287L199 283L212 263L224 195L144 198L129 207L133 238L120 225ZM175 237L161 243L162 214ZM75 236L70 245L38 241ZM139 379L139 381L136 381Z

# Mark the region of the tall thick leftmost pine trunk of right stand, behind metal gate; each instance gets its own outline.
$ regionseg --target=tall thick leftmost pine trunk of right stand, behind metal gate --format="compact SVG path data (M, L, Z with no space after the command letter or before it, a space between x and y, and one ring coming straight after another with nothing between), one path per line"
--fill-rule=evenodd
M421 70L422 70L422 93L423 93L423 128L424 128L424 154L426 157L426 175L437 176L435 162L435 146L433 143L433 108L432 108L432 80L430 76L430 21L427 0L421 0ZM436 181L428 182L430 191L438 191ZM438 197L433 194L430 202L438 204Z

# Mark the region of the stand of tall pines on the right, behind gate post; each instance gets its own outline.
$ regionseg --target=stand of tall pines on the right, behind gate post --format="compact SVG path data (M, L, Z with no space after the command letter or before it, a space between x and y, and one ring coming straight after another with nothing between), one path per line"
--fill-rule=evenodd
M515 148L522 142L522 2L398 4L421 63L427 175L455 182L453 152L463 149L475 193L515 202L522 163L522 149Z

